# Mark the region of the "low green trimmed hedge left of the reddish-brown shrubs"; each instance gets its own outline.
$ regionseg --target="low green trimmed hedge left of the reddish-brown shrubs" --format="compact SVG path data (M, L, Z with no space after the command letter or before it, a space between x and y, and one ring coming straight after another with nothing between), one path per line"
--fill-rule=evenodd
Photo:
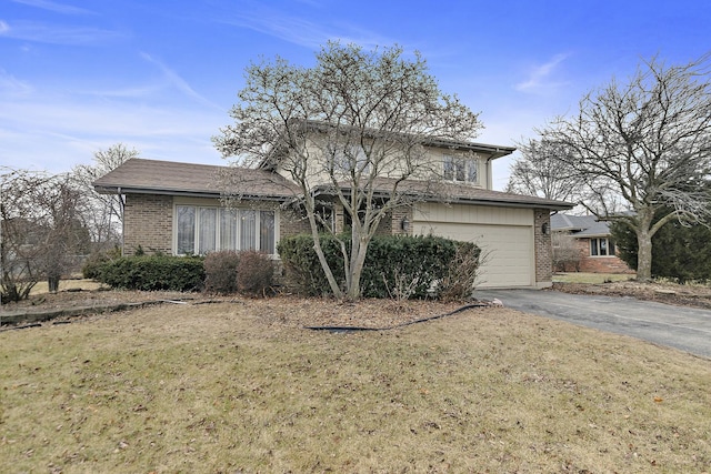
M124 256L101 265L99 281L111 288L142 291L197 291L204 281L198 256Z

